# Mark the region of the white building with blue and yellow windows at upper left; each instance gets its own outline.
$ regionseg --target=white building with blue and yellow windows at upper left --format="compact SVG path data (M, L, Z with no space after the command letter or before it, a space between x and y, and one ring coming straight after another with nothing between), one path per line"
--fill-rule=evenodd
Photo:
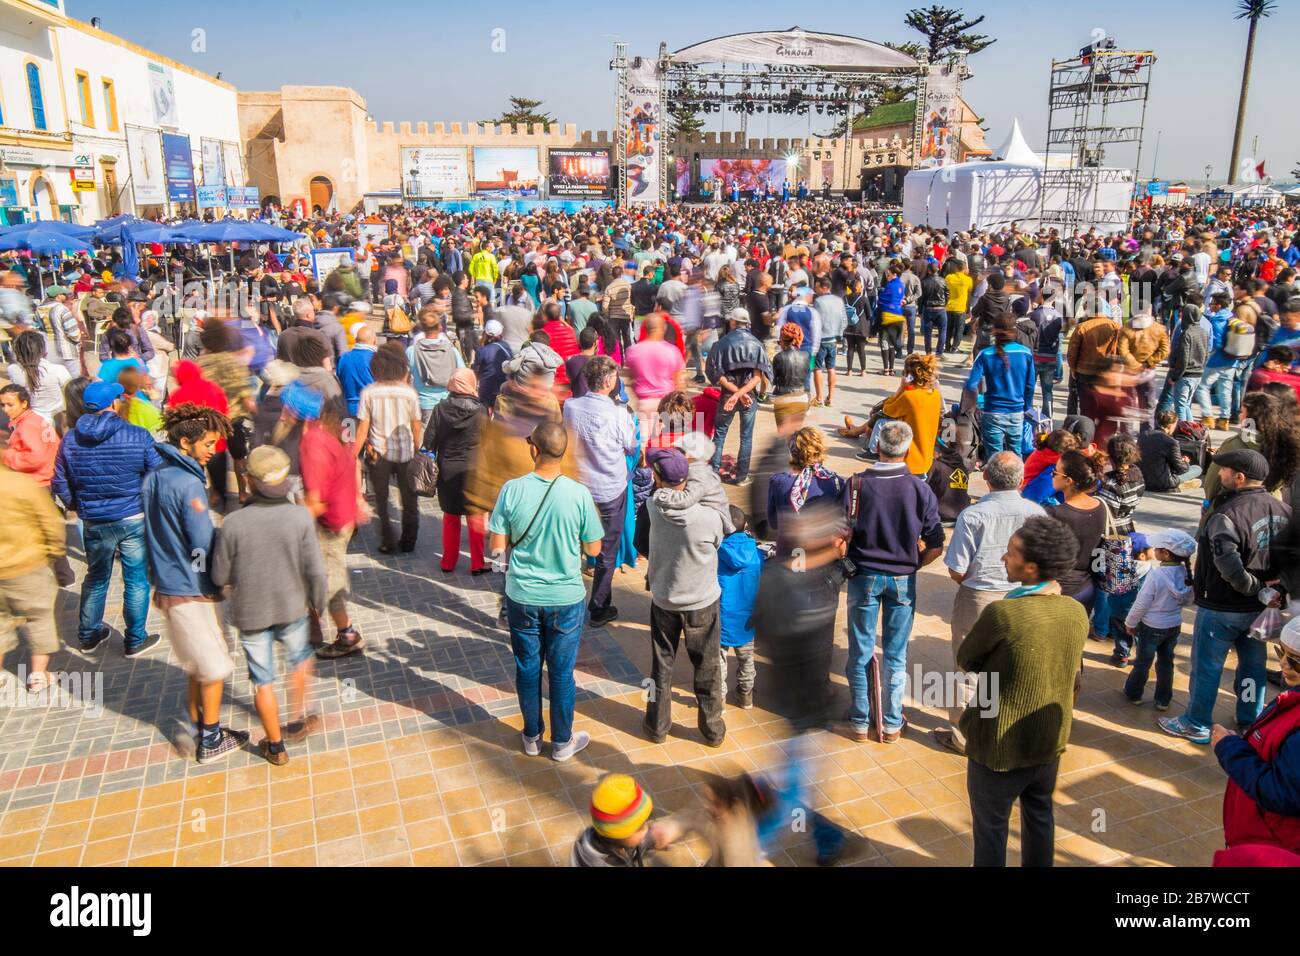
M4 221L192 213L199 185L244 182L234 86L72 20L62 0L0 0Z

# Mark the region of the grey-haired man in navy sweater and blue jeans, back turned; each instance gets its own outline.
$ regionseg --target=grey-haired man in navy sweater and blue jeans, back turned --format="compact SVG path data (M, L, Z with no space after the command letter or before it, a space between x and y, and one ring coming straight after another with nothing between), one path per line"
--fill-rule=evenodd
M911 427L887 421L880 428L875 467L849 480L848 558L857 568L849 579L849 711L848 736L870 739L872 722L867 666L876 653L876 618L883 618L884 649L880 740L894 743L904 731L902 695L907 683L907 640L916 604L916 571L944 551L939 499L926 480L907 470Z

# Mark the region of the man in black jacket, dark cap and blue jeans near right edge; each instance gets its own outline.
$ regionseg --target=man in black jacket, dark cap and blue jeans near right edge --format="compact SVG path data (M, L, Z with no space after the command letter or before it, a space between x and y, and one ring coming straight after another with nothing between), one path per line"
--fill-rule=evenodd
M1196 537L1191 696L1180 717L1160 719L1162 731L1193 744L1210 743L1214 700L1231 649L1238 661L1236 724L1244 728L1260 715L1268 654L1249 632L1265 605L1278 600L1275 592L1261 592L1278 576L1273 544L1291 516L1291 507L1265 489L1269 460L1258 451L1221 451L1214 463L1222 490L1210 502Z

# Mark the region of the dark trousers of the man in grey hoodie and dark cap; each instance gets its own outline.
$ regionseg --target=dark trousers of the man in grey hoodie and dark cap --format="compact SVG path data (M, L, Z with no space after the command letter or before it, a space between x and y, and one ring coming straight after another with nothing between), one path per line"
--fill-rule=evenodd
M727 736L723 723L722 624L718 601L696 611L670 611L650 602L650 679L646 701L646 731L667 736L672 730L672 665L677 644L685 639L686 656L694 670L696 702L699 705L699 732L711 744Z

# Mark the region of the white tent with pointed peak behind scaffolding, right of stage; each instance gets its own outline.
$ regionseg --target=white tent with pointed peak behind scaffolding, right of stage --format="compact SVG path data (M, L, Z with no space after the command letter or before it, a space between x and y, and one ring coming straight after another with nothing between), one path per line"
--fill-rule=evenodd
M915 169L904 179L902 217L916 225L965 232L971 226L1006 226L1011 222L1035 228L1043 199L1045 163L1024 140L1019 121L994 150L991 160ZM1127 208L1132 196L1131 177L1100 185L1097 208ZM1084 208L1092 208L1087 196ZM1091 224L1084 224L1087 228Z

